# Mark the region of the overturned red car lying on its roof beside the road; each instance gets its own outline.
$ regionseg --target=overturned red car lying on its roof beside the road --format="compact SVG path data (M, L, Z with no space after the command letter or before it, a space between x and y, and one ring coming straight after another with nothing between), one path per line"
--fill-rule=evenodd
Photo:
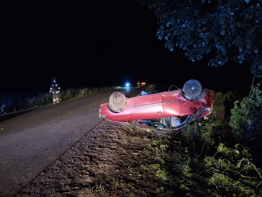
M202 89L197 80L188 80L182 89L127 98L113 92L99 114L113 122L132 121L149 129L178 130L190 122L207 119L212 112L214 93Z

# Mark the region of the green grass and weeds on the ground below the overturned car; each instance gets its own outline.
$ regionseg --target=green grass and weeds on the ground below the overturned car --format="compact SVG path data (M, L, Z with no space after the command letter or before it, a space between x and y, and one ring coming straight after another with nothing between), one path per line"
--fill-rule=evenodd
M161 180L160 187L150 189L151 193L157 193L156 196L261 196L262 171L259 164L256 166L252 161L252 150L234 140L231 131L221 131L223 126L214 115L208 121L199 120L194 125L183 127L173 136L139 137L146 144L140 154L150 159L146 159L144 165L126 167L132 174L141 177L153 175ZM134 132L139 129L134 124L130 127ZM138 139L137 135L132 137ZM137 176L138 183L139 180ZM100 189L105 183L99 184ZM93 189L92 194L96 194L93 196L106 196L94 188L89 188ZM103 194L113 191L110 187L103 189Z

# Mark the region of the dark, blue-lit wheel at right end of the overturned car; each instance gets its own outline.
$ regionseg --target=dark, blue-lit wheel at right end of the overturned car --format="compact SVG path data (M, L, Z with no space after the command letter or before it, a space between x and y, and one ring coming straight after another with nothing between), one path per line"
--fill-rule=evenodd
M202 85L198 80L191 79L184 84L183 90L186 96L195 98L201 94Z

